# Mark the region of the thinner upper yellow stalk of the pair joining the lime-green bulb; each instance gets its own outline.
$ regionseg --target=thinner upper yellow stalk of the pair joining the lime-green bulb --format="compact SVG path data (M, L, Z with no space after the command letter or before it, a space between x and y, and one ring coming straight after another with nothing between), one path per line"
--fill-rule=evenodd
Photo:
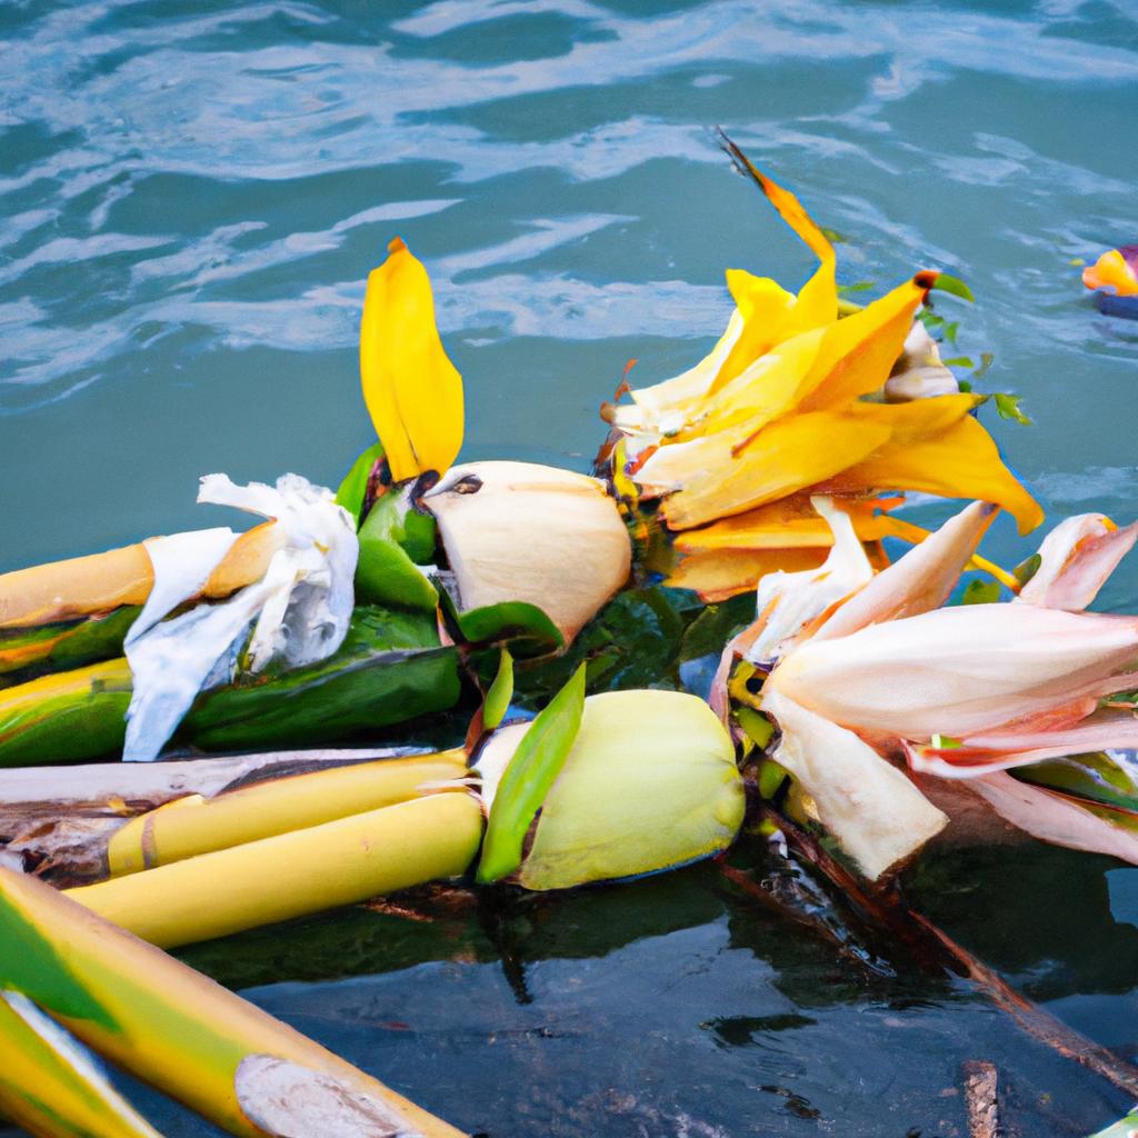
M112 876L316 826L418 798L424 783L462 778L462 750L313 770L218 794L189 794L132 818L107 847ZM438 789L438 787L436 787Z

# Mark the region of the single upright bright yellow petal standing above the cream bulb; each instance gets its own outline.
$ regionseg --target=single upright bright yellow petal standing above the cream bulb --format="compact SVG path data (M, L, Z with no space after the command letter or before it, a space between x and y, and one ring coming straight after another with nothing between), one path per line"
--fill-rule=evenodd
M435 325L427 270L399 238L368 278L360 328L363 397L396 481L445 471L462 446L462 377Z

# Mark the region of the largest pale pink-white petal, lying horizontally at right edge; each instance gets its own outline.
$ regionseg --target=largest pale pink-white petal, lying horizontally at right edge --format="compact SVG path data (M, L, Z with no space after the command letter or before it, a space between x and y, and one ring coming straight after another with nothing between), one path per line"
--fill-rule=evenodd
M807 641L770 674L855 729L963 739L1138 682L1138 617L968 604Z

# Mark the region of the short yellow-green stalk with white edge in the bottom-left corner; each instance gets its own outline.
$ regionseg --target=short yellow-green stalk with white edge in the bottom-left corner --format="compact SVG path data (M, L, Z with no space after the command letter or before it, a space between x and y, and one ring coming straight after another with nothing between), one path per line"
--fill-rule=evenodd
M36 1138L160 1138L57 1023L0 992L0 1112Z

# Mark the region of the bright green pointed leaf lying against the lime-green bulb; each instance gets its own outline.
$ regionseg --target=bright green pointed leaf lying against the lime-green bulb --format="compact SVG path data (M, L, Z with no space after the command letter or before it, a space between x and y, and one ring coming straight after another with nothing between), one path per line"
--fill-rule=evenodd
M584 708L582 665L529 725L502 775L486 823L479 882L501 881L521 865L526 834L569 757Z

